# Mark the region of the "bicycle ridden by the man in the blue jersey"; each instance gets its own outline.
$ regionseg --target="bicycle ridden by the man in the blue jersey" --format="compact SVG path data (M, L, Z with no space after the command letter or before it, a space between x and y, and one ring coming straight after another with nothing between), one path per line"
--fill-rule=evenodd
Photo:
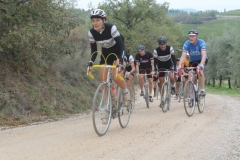
M198 79L197 79L197 86L194 85L194 77L196 76L196 72L194 69L197 67L186 67L189 69L190 72L190 79L186 82L184 87L184 94L183 94L183 102L186 114L191 117L195 111L196 103L198 105L199 113L202 113L205 107L205 96L201 96L198 87ZM201 76L201 75L200 75Z

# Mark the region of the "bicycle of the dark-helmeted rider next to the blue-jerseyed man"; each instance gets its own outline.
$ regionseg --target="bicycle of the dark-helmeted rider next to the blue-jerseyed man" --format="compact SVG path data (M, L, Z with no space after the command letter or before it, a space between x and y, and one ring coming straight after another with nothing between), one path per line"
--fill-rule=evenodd
M162 108L162 111L165 113L167 110L170 109L171 104L171 82L169 73L171 70L160 70L159 72L165 72L165 82L162 84L161 88L161 98L160 98L160 108Z

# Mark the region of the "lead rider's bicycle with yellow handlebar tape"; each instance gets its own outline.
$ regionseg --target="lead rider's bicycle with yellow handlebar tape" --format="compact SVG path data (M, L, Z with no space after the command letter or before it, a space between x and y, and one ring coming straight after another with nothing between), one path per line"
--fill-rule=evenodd
M117 67L114 65L93 65L92 69L102 67L107 68L107 80L99 84L94 95L92 106L93 126L98 136L106 134L111 119L116 117L118 117L120 126L126 128L132 113L132 103L130 103L128 107L124 106L123 93L120 87L116 87L116 95L114 96L115 85L111 79L111 69ZM89 72L88 75L90 78L94 78L91 72ZM123 80L120 74L117 76Z

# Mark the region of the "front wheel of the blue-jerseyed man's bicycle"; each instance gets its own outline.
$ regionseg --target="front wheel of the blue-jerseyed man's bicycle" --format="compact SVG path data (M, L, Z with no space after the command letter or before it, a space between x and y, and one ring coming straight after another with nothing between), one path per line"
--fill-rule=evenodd
M186 114L191 117L195 110L195 89L192 81L187 81L184 87L183 103Z

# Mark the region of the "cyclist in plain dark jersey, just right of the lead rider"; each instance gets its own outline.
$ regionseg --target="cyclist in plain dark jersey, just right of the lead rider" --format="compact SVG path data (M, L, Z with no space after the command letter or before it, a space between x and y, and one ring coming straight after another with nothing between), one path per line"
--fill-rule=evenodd
M149 93L150 93L149 101L153 102L153 98L152 98L152 88L153 88L152 75L154 74L153 54L150 51L145 50L145 46L139 45L138 53L135 56L135 62L136 62L136 72L137 72L138 83L141 89L140 96L144 96L144 93L143 93L143 76L140 76L139 74L147 73L148 84L149 84L148 87L149 87Z

